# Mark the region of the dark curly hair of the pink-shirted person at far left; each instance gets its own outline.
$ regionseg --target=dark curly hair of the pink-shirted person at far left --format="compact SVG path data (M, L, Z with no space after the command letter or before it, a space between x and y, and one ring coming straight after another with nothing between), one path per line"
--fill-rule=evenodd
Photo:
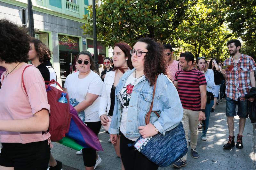
M0 61L5 63L28 62L29 35L27 30L0 19Z

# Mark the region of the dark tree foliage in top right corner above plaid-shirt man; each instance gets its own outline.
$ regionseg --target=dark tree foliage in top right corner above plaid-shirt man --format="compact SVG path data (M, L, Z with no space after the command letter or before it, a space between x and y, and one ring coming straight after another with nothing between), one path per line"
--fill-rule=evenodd
M229 28L244 41L242 52L256 59L256 0L226 0Z

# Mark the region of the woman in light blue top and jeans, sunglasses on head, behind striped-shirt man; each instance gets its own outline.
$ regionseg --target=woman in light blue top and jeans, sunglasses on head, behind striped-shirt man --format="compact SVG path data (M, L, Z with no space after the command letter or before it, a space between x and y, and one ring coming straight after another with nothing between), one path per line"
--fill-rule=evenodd
M205 60L205 57L198 57L196 59L196 69L200 70L204 73L207 85L206 85L206 96L207 96L207 102L205 106L205 121L203 124L203 135L201 136L202 140L207 140L207 129L209 126L209 118L210 118L210 113L211 109L213 106L213 90L212 87L214 85L214 75L213 71L208 69L208 64L207 61Z

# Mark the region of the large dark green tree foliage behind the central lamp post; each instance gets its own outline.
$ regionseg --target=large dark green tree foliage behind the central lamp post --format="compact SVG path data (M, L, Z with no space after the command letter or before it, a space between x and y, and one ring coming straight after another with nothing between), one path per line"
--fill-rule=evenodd
M103 0L96 7L98 39L107 46L119 41L133 45L145 36L170 40L185 17L187 4L188 0ZM84 19L84 33L93 34L92 6Z

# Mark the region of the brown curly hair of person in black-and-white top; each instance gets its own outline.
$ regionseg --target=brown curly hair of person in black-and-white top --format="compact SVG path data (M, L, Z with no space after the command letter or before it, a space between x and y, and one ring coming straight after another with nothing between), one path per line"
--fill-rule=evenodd
M31 43L34 44L37 56L40 63L44 63L51 60L52 51L41 41L35 38L31 38Z

